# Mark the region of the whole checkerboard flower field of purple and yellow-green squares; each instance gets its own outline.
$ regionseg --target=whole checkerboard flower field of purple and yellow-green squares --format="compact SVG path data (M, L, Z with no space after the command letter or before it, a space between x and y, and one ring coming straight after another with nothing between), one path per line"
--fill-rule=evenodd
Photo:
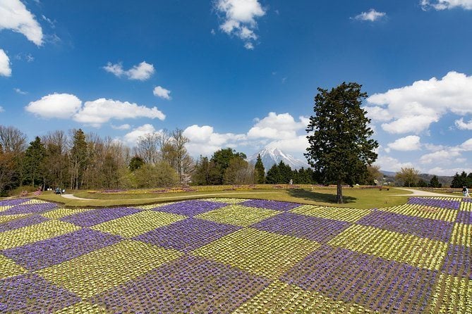
M472 313L472 202L404 200L0 201L0 313Z

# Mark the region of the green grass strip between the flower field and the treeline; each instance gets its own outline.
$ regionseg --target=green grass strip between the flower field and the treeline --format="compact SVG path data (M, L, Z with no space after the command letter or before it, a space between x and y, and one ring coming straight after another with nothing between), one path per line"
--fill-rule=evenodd
M91 194L87 191L77 191L77 197L85 200L64 199L47 192L39 196L46 201L63 203L65 206L121 206L142 205L162 201L181 201L184 199L202 199L209 197L232 197L241 199L270 199L274 201L290 201L295 203L307 203L323 206L339 206L351 208L380 208L396 206L406 203L408 196L394 196L395 194L407 194L406 191L390 189L379 191L378 189L343 189L344 204L335 203L335 189L257 189L246 191L201 191L179 192L166 194Z

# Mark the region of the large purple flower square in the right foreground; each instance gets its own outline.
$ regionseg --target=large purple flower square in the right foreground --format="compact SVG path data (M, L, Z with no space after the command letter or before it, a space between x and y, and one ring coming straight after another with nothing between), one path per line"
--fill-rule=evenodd
M325 245L281 280L380 313L417 313L430 303L435 277L431 270Z

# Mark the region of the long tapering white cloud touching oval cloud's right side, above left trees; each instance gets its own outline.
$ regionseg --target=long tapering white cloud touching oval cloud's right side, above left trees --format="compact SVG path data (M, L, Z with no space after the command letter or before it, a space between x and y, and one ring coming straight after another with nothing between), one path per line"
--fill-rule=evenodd
M143 117L164 120L166 115L156 107L147 108L136 103L128 103L128 101L101 98L95 101L86 101L83 108L73 115L73 120L99 127L111 119L123 120Z

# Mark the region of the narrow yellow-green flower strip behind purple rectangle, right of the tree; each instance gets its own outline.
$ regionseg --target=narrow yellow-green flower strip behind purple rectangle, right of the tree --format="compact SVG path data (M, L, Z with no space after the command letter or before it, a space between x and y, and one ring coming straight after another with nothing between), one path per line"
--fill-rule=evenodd
M435 220L444 220L449 222L456 221L457 211L437 207L428 207L417 204L404 204L400 206L379 208L379 211L397 213L401 215L428 218Z

